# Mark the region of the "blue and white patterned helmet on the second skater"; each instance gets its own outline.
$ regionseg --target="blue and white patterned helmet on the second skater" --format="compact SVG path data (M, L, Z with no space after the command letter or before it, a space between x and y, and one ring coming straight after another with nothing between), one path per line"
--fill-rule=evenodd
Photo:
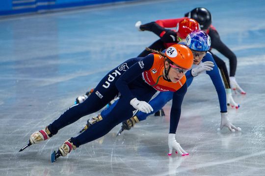
M211 38L203 30L196 30L187 35L185 44L195 51L208 51L211 47Z

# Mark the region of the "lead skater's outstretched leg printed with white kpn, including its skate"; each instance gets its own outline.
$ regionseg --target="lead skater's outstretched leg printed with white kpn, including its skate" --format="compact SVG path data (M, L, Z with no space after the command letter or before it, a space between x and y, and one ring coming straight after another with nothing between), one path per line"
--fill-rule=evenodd
M83 103L70 107L44 130L40 130L31 134L27 146L47 140L63 127L76 122L79 118L85 115L96 112L105 107L107 103L109 103L118 95L118 90L115 86L117 79L134 63L135 59L131 59L128 60L127 63L123 63L120 66L112 69L100 81L95 90ZM27 146L23 147L20 151L26 149Z

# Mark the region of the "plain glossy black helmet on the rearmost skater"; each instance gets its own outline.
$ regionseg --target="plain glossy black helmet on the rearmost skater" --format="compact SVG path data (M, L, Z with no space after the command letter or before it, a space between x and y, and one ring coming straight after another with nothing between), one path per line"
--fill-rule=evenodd
M203 7L197 7L185 14L185 17L192 18L200 23L201 29L207 29L212 23L212 17L209 10Z

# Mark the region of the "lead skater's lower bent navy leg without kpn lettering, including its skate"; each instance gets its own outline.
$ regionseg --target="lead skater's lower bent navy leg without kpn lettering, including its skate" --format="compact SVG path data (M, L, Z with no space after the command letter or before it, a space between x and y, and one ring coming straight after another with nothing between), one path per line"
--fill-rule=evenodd
M132 89L133 95L141 101L149 102L155 93L155 89ZM91 142L99 137L106 135L111 129L122 121L132 116L132 111L135 110L128 99L120 97L116 106L107 114L105 118L91 125L86 131L79 134L77 137L72 137L66 140L58 149L51 155L52 162L56 161L59 156L66 156L72 150L75 150L80 145Z

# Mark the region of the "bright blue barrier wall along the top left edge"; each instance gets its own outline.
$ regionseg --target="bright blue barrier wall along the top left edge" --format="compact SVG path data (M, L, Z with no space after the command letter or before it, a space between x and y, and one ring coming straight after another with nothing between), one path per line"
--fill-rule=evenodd
M0 17L135 0L0 0Z

